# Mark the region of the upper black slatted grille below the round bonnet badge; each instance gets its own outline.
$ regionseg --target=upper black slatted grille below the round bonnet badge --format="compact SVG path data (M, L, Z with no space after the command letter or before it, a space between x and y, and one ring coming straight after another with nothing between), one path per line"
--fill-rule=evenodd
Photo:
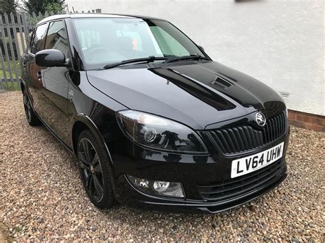
M281 138L286 133L284 112L267 119L262 129L250 125L206 131L222 153L238 153Z

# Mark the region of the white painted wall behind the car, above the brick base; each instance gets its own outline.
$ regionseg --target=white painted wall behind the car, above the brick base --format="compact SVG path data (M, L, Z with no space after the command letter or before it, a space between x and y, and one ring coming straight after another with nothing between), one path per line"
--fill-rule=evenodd
M213 60L289 92L289 109L325 115L323 0L66 2L79 12L165 18Z

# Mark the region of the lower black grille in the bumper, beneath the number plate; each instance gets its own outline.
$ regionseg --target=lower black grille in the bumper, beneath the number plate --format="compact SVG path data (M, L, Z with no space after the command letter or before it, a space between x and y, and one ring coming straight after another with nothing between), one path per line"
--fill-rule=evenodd
M258 186L267 183L276 177L276 175L279 175L280 171L281 159L247 175L226 181L219 181L206 186L199 186L199 191L204 199L224 201L258 188Z

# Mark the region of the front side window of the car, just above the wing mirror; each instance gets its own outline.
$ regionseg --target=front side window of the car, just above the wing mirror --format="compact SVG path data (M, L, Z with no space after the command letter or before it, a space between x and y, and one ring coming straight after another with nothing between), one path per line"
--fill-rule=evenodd
M67 57L69 43L67 30L63 21L51 22L47 31L45 49L57 49Z

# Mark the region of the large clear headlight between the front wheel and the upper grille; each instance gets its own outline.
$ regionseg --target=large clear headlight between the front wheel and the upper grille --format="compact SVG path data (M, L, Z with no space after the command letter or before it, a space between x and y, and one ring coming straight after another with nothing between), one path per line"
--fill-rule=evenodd
M173 120L144 112L123 110L117 112L117 121L128 138L151 149L172 153L208 153L195 131Z

